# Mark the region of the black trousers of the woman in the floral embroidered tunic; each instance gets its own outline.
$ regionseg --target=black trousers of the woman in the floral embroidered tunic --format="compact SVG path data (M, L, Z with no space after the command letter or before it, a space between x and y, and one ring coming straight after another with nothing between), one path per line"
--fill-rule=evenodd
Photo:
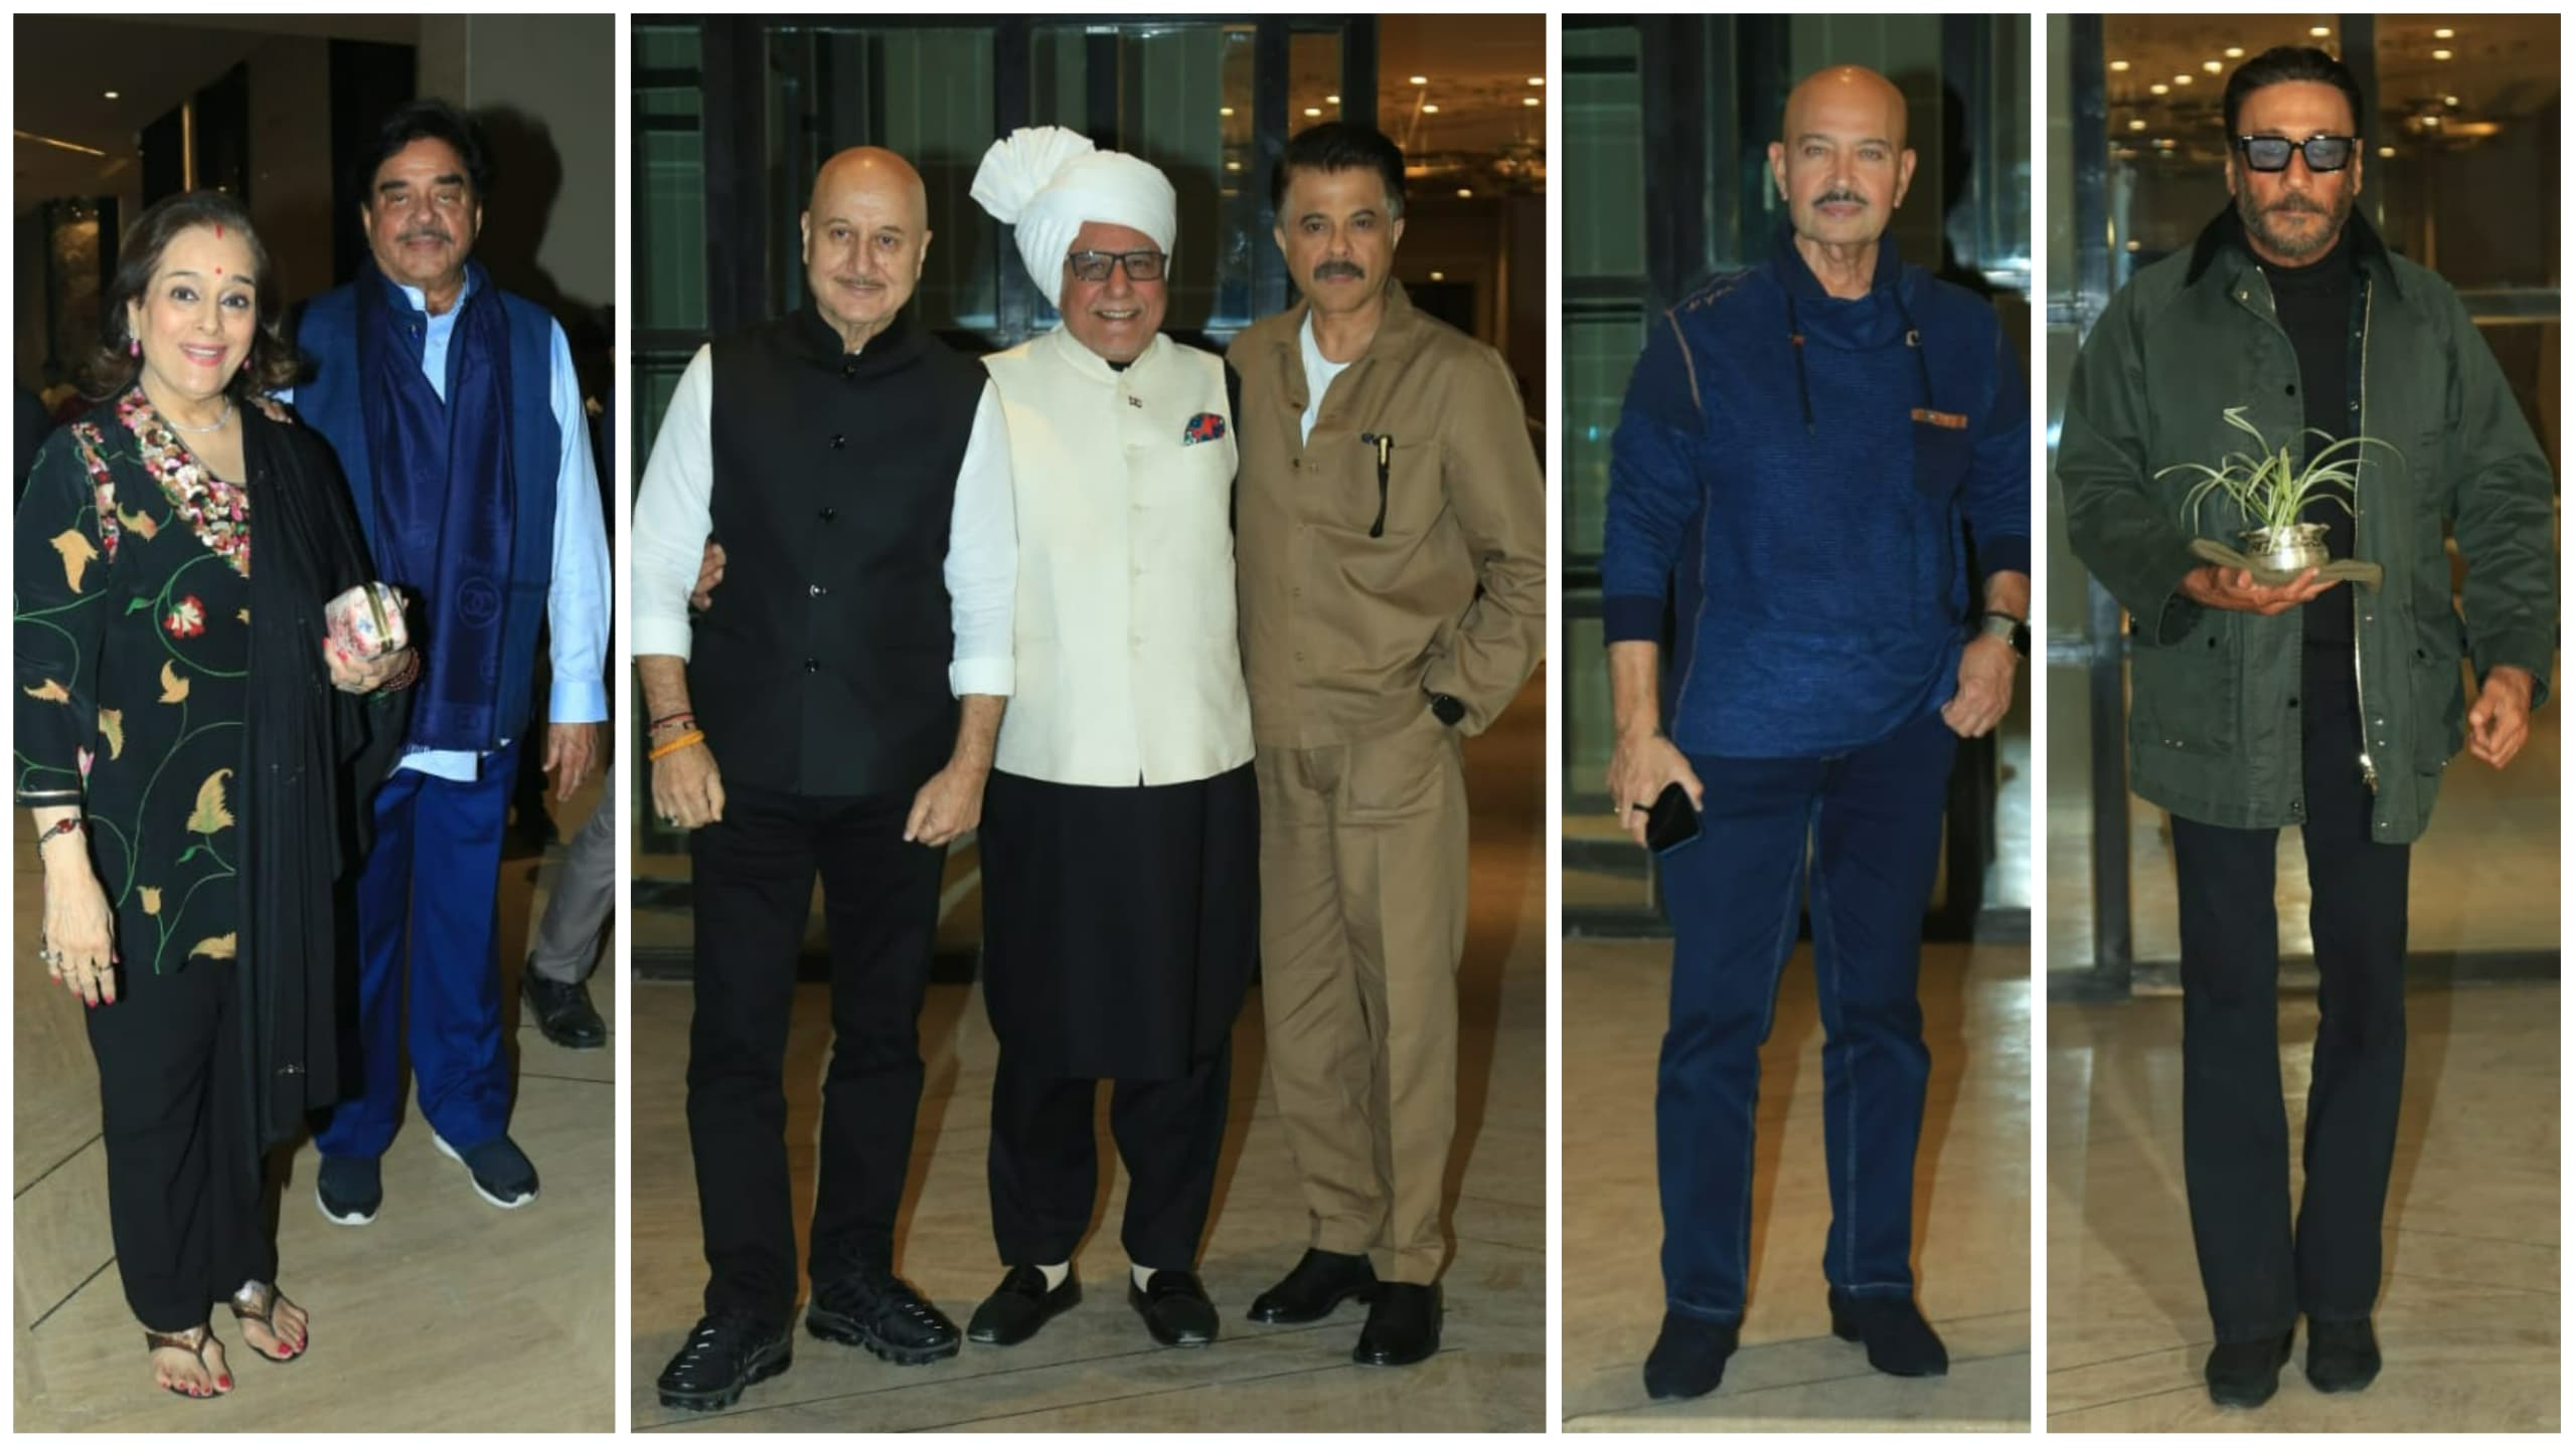
M116 1004L88 1009L116 1271L134 1318L165 1333L278 1277L234 970L209 957L165 975L124 968Z

